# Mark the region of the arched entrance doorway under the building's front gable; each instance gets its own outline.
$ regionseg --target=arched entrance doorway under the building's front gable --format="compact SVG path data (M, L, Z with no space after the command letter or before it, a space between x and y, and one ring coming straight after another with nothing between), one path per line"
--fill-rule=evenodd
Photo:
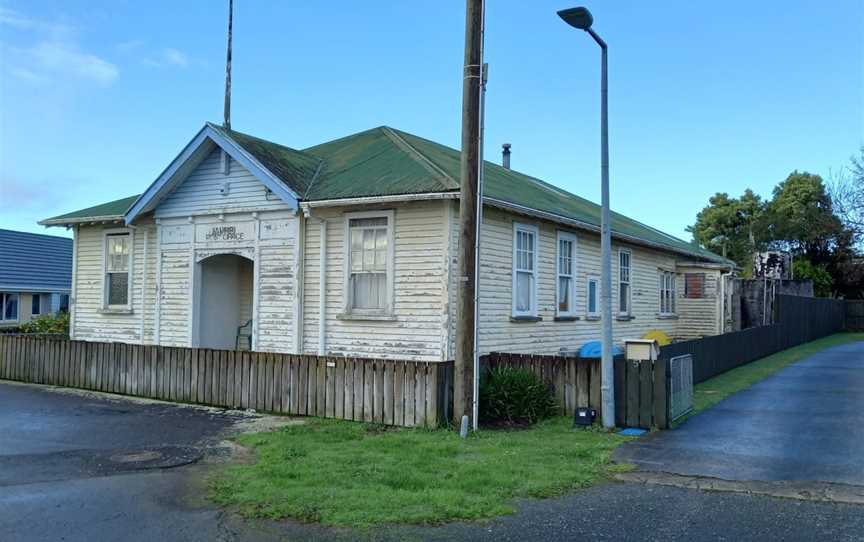
M201 348L249 349L254 264L237 254L201 260L196 280L195 341ZM242 328L238 331L238 328Z

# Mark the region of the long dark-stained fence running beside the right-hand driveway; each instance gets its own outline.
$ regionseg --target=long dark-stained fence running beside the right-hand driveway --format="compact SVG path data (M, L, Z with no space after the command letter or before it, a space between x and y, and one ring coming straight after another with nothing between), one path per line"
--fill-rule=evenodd
M693 383L698 384L786 348L843 330L842 300L780 295L777 311L775 324L670 344L660 349L660 359L692 354Z

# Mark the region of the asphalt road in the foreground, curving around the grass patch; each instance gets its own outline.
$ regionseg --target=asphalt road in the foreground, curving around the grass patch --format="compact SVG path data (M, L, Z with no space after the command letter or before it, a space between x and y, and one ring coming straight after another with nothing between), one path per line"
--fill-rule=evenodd
M864 507L615 483L488 523L326 529L203 498L235 415L0 383L0 540L860 540ZM152 457L155 452L158 457ZM143 470L142 470L143 469Z

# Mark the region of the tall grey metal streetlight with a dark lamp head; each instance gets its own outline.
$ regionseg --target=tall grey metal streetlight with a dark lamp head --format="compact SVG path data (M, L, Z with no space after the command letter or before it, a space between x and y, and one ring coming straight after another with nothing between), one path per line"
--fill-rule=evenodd
M612 366L612 231L609 225L609 97L606 76L606 42L591 29L594 17L588 8L562 9L558 12L565 23L584 30L594 38L601 50L600 68L600 249L602 275L600 277L600 310L603 330L601 367L601 401L603 426L615 427L615 372Z

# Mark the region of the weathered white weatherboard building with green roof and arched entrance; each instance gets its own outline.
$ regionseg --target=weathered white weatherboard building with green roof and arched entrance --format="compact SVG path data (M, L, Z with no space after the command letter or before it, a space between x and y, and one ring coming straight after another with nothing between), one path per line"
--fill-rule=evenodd
M384 126L295 150L208 123L140 196L40 222L74 230L71 334L452 359L459 163ZM599 207L485 171L481 350L597 339ZM734 264L620 214L612 232L617 341L722 329Z

